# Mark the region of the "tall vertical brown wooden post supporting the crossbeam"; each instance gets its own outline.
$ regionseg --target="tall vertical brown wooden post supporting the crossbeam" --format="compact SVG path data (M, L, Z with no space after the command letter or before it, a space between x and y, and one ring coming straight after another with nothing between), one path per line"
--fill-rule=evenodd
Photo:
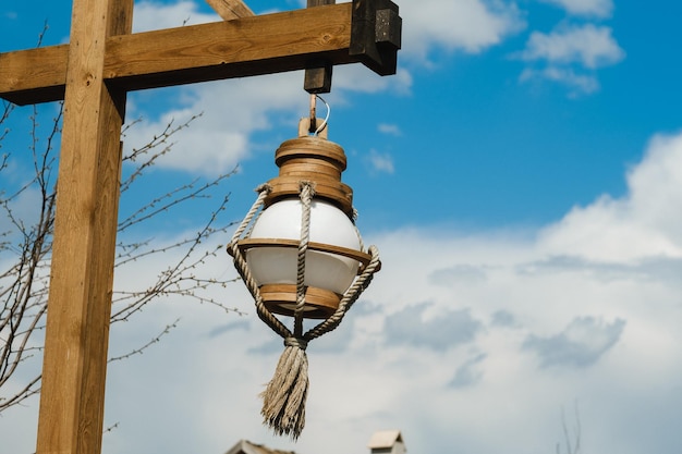
M37 454L101 451L125 93L103 83L133 0L74 0Z

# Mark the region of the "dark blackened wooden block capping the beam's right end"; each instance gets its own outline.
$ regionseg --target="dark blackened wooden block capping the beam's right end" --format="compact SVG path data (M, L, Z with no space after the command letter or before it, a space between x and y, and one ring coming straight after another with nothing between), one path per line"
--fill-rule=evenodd
M390 0L353 0L349 53L379 75L395 74L402 19Z

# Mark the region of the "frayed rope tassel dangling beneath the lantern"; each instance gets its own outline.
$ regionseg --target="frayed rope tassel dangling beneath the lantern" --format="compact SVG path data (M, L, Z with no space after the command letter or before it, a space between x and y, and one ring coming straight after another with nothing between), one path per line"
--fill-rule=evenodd
M272 380L260 394L263 422L279 435L296 440L305 426L308 394L308 357L303 340L287 338Z

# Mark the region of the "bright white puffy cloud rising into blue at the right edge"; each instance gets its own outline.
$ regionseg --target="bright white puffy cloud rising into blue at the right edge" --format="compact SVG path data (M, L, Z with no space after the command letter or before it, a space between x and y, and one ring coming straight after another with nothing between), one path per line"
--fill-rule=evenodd
M589 260L636 261L647 256L682 257L682 135L657 135L644 159L628 173L629 194L575 207L543 232L557 254Z

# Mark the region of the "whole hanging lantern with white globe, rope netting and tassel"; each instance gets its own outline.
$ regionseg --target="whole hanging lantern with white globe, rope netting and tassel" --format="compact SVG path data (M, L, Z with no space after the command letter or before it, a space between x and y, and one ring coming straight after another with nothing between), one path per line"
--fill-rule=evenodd
M339 326L380 268L376 247L365 250L355 228L343 149L327 139L326 120L304 119L299 130L277 149L279 175L258 188L228 246L259 318L284 339L261 414L294 439L305 424L308 341ZM293 331L276 315L293 317ZM304 318L321 321L304 333Z

